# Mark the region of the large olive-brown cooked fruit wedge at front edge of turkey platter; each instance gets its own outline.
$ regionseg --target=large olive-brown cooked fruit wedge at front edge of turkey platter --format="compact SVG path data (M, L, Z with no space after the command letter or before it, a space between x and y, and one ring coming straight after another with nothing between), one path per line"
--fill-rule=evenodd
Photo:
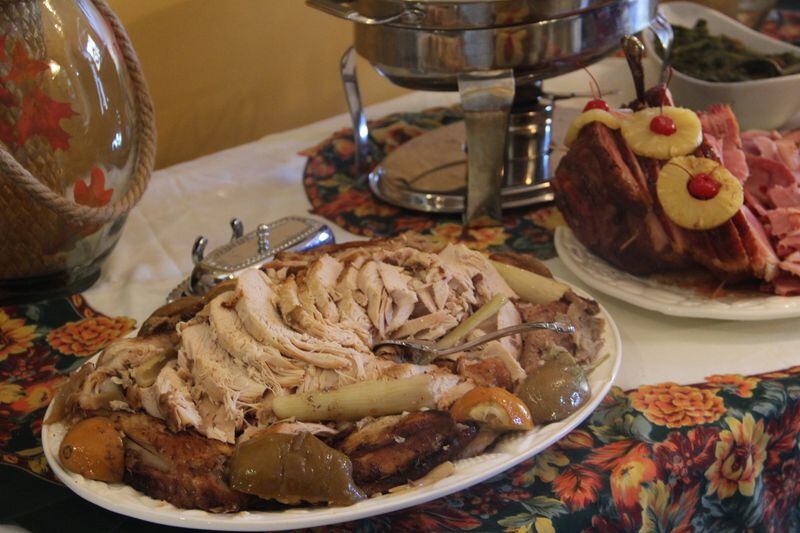
M366 498L350 459L310 433L261 434L240 443L230 462L235 490L287 504L351 505Z

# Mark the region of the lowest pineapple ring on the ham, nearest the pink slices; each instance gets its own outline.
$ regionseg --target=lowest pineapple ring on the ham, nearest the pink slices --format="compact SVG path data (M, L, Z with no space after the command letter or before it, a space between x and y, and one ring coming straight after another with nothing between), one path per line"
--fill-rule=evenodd
M692 176L705 173L720 184L717 194L700 200L689 192ZM658 173L658 201L667 217L691 230L716 228L727 222L744 203L742 184L725 167L704 157L675 157Z

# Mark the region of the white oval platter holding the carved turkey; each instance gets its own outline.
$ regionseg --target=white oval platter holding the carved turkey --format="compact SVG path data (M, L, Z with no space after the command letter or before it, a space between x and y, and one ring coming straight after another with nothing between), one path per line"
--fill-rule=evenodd
M575 292L589 297L579 289L575 289ZM349 507L297 508L280 512L242 511L230 514L178 509L165 501L150 498L128 485L93 481L65 470L58 460L58 448L67 430L62 423L43 427L42 445L55 475L76 494L110 511L158 524L225 531L276 531L376 516L435 500L480 483L541 452L586 419L608 393L622 361L622 344L617 326L603 308L601 316L605 321L605 346L602 354L608 353L609 357L589 375L592 396L580 410L560 422L505 436L492 453L457 461L455 472L448 478L428 486L370 498ZM49 412L48 409L45 418Z

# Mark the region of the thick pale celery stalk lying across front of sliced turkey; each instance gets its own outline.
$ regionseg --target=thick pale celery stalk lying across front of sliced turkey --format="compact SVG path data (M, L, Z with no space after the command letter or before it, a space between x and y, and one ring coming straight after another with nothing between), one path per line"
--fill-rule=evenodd
M278 396L272 410L278 418L360 420L436 407L434 379L428 375L390 381L362 381L329 392Z

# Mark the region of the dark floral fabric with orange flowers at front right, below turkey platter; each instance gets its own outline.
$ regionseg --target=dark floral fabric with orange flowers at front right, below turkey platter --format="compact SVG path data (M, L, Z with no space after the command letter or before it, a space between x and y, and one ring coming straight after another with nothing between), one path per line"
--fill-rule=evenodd
M485 483L329 529L800 531L798 436L800 367L614 388L572 433Z

